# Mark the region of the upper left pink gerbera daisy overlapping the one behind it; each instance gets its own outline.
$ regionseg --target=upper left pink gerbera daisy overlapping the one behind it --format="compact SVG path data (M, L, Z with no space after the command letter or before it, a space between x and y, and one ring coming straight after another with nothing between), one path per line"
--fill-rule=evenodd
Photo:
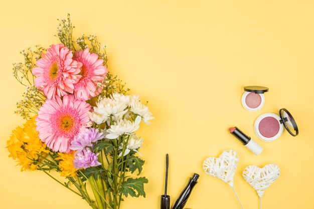
M37 76L35 85L48 99L73 93L74 84L82 77L79 75L82 64L72 57L72 51L63 44L57 44L51 45L47 54L37 61L37 67L32 70Z

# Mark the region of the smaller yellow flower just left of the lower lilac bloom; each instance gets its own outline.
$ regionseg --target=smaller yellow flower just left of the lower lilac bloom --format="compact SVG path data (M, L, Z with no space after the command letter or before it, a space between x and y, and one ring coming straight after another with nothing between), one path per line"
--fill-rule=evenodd
M58 152L59 157L55 158L59 161L59 168L61 169L61 176L67 177L67 176L76 176L77 175L77 169L74 168L73 159L74 159L74 153L61 153Z

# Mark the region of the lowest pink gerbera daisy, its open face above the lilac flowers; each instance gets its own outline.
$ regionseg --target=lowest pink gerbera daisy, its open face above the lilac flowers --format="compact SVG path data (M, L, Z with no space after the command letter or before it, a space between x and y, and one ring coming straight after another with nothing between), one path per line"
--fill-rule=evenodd
M55 100L47 99L36 117L39 138L56 152L69 152L74 136L89 126L90 108L74 95L65 95L63 101L58 96Z

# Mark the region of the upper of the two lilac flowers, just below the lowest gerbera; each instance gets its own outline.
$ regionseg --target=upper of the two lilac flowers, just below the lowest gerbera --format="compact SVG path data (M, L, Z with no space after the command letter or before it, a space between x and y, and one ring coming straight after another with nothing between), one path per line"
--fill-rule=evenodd
M104 138L104 135L102 132L99 133L98 129L86 128L84 131L74 136L71 141L70 149L81 150L84 147L93 147L93 143L102 138Z

